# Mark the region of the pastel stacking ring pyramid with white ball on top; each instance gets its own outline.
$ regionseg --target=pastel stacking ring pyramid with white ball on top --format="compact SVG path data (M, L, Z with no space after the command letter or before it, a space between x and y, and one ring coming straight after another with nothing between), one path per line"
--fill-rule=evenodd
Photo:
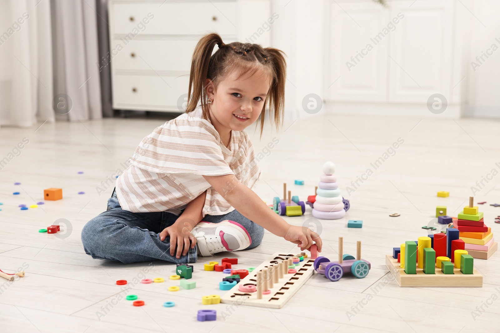
M316 219L335 220L345 216L344 204L335 176L335 164L325 162L323 174L319 176L316 200L313 203L312 216Z

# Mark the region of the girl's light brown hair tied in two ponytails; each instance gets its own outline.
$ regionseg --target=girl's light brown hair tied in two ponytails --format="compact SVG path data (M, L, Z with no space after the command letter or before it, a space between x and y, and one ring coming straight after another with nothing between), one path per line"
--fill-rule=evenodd
M213 53L213 48L218 50ZM265 109L268 105L269 118L274 122L276 130L282 125L284 109L284 83L286 77L286 62L284 52L273 47L262 47L259 44L241 43L238 41L224 44L218 33L209 33L201 37L196 44L191 59L189 73L189 90L185 112L193 111L201 102L203 118L209 119L206 107L205 81L213 81L216 89L220 80L233 70L239 71L239 76L262 69L272 78L269 91L260 113L260 136L264 128Z

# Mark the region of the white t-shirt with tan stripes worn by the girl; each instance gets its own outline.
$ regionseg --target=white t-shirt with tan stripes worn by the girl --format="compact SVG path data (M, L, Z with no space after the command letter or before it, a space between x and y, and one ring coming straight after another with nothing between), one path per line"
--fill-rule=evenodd
M202 119L201 106L156 127L116 179L121 208L179 215L206 190L203 216L231 212L234 208L202 176L234 174L251 189L261 171L245 131L231 130L230 141L228 149L210 121Z

